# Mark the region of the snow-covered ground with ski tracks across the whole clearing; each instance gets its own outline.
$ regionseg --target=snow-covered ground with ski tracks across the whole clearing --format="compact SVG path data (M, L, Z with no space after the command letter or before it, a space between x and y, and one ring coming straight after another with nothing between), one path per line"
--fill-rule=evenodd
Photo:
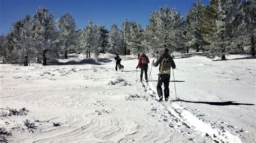
M55 66L0 64L1 140L255 142L256 60L246 57L176 55L179 100L166 103L155 98L158 67L148 86L139 82L136 56L121 56L123 72L111 54L73 55ZM170 91L176 99L173 76Z

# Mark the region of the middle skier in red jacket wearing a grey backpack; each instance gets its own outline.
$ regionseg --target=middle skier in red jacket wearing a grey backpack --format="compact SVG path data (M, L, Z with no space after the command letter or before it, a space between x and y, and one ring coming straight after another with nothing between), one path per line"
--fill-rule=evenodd
M140 81L142 82L142 77L143 77L143 71L145 72L145 80L147 82L147 68L149 67L147 63L150 63L149 58L147 57L146 54L142 53L142 55L139 56L139 63L136 69L138 67L140 68Z

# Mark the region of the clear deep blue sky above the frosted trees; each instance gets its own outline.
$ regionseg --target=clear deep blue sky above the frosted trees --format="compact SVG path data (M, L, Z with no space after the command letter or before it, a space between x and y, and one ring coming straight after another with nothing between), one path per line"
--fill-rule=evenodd
M209 4L209 0L202 2ZM94 24L109 29L113 23L120 27L125 18L144 28L149 25L150 14L165 5L176 8L185 17L193 3L194 0L0 0L0 34L10 32L12 23L27 13L32 17L39 6L55 13L55 19L69 12L78 28L85 27L91 18Z

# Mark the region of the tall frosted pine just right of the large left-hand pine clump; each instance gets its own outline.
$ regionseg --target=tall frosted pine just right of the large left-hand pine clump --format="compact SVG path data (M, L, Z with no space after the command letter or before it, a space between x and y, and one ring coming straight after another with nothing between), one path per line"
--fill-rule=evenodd
M58 19L58 27L60 29L60 41L62 41L62 51L65 59L68 59L68 52L75 51L78 45L78 33L76 31L76 23L73 17L66 12Z

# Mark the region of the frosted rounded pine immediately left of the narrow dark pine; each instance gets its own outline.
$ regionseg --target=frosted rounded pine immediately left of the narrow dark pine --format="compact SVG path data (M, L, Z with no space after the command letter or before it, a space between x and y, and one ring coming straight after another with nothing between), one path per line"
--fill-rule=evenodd
M100 30L99 27L93 25L92 20L89 19L88 25L83 29L80 42L84 51L86 51L86 58L91 58L90 51L92 50L95 57L98 58L100 46ZM88 55L89 54L89 55Z

